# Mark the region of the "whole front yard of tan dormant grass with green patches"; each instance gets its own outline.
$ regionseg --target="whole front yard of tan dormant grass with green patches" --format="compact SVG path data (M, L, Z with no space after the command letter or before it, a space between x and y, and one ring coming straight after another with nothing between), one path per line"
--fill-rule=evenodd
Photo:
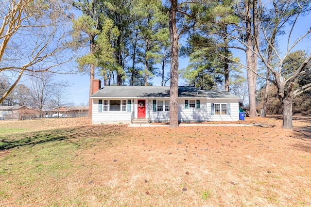
M293 123L0 121L0 206L311 206L311 117Z

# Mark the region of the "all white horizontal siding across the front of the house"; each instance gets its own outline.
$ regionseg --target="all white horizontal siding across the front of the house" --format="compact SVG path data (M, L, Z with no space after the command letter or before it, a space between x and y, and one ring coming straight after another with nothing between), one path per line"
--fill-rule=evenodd
M126 111L103 111L98 110L98 100L128 100L131 99L131 112ZM137 118L137 101L138 99L146 100L146 118L150 119L150 122L169 122L170 111L153 111L153 100L169 100L169 98L122 98L122 99L104 99L94 98L92 107L92 123L120 123L127 124L131 122L132 112L134 112ZM134 100L134 101L133 101ZM190 108L190 101L188 102L188 109L185 108L185 100L194 100L195 108ZM200 108L196 108L196 100L200 100ZM109 101L108 101L109 103ZM122 103L122 102L121 102ZM156 102L157 103L157 102ZM230 114L215 114L211 115L211 103L230 103ZM127 109L127 108L126 108ZM179 98L178 99L178 120L180 122L206 122L206 121L238 121L239 120L239 100L238 99L206 99L206 98Z

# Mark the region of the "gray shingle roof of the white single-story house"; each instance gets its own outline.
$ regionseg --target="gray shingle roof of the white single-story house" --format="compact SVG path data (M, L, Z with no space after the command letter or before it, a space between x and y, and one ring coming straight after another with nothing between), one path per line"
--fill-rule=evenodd
M91 98L170 97L170 86L104 86ZM224 90L200 90L191 86L178 86L178 97L237 98Z

